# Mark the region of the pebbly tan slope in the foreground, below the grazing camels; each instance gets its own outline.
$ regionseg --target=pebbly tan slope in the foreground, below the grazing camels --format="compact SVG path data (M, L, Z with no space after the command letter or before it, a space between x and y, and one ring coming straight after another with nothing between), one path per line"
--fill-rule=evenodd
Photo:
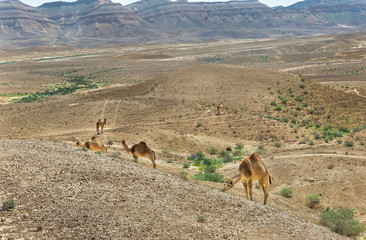
M115 156L115 155L114 155ZM261 204L76 146L0 140L4 239L345 239Z

